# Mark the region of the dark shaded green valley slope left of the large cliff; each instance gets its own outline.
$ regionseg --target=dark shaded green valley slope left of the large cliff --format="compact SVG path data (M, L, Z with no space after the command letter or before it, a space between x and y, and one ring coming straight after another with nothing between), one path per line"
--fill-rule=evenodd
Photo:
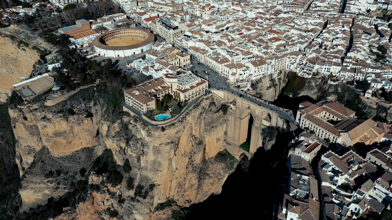
M0 105L0 216L12 219L19 211L20 176L15 162L15 137L8 107Z

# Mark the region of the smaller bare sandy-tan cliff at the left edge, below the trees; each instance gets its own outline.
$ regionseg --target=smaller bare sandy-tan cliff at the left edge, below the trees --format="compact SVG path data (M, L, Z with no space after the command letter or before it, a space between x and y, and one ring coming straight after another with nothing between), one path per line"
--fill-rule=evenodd
M17 43L1 35L0 48L0 101L5 102L12 92L12 85L30 75L40 56L37 51L18 47Z

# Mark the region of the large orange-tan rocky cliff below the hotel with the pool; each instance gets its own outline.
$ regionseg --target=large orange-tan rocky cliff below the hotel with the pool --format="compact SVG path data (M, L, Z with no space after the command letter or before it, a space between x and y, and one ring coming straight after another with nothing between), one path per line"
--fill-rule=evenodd
M87 97L94 97L93 90ZM86 199L58 219L109 218L116 213L122 218L168 218L170 209L154 211L158 203L172 199L185 207L219 193L233 170L217 156L224 150L227 120L222 112L216 113L219 97L201 98L182 121L165 129L136 122L128 114L106 117L104 104L95 98L79 94L52 107L36 104L9 110L18 140L22 211L73 191L83 179L80 169L89 170L104 149L111 149L119 165L128 159L132 170L120 169L123 179L116 187L104 181L109 178L105 175L91 175ZM150 188L148 196L136 197L138 187L127 186L129 177L134 186Z

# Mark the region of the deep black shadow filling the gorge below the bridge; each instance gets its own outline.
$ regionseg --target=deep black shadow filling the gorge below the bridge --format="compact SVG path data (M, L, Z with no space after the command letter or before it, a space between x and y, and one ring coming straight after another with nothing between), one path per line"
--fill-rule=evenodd
M288 133L278 133L271 150L258 148L250 160L244 158L227 177L219 195L189 207L185 219L262 218L272 219L274 202L281 190L287 160Z

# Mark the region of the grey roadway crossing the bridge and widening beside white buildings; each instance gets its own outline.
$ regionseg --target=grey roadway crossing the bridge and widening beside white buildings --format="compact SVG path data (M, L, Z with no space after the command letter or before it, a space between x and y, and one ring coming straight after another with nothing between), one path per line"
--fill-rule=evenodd
M275 112L277 112L280 115L280 117L295 124L294 115L293 116L290 115L290 113L292 114L292 110L283 109L278 106L272 105L269 103L269 101L265 101L263 99L256 98L252 95L249 95L249 94L246 94L245 92L242 92L241 90L238 90L236 88L231 87L229 84L227 84L227 78L219 75L214 70L211 70L209 67L206 67L205 65L203 65L201 63L199 64L199 62L194 57L192 57L192 64L194 65L192 70L193 71L197 70L198 76L201 76L202 78L209 80L211 83L211 88L224 89L224 90L231 92L233 94L236 94L238 96L242 95L243 99L247 99L249 101L252 101L252 102L256 103L257 105L260 105L264 108L274 110ZM202 72L203 70L209 72L211 74L211 76L206 76Z

